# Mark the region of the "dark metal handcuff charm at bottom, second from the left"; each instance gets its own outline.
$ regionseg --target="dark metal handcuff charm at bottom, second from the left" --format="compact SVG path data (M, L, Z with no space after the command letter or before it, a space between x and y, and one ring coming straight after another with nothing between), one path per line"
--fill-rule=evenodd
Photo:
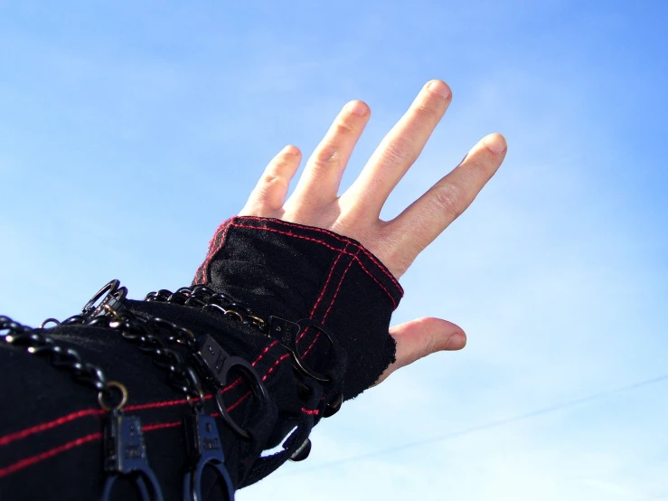
M183 477L183 500L202 501L202 472L204 467L216 470L227 499L234 501L234 486L225 468L225 455L216 420L204 411L194 411L185 418L186 440L190 454L190 468Z

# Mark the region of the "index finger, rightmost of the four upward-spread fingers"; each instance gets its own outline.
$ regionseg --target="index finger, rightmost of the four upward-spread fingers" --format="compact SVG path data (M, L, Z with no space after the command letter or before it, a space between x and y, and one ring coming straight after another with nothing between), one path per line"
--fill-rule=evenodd
M400 275L429 243L474 201L505 157L503 136L491 134L468 153L455 170L388 222L383 232L395 249L391 257ZM391 251L390 251L391 252Z

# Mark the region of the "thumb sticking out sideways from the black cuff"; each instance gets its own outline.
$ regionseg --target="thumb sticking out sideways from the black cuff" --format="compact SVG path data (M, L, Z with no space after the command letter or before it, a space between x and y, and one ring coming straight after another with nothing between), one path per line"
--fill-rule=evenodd
M397 360L381 374L376 384L405 365L438 351L461 350L466 346L466 334L461 327L440 318L418 318L390 328L397 342Z

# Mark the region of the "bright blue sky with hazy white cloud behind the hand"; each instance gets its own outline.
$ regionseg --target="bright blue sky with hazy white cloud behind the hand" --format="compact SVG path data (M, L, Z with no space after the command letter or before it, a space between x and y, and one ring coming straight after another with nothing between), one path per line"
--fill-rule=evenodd
M0 311L189 283L281 147L307 155L365 100L348 184L440 78L453 104L385 216L485 134L509 151L402 278L395 321L445 317L468 345L348 402L239 499L668 498L666 381L329 464L668 373L668 5L230 4L0 1Z

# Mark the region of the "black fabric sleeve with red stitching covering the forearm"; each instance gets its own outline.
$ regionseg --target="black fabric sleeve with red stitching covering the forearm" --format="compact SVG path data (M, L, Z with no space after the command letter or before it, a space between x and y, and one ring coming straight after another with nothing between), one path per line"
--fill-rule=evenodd
M193 285L205 285L237 301L238 310L242 304L252 311L235 316L235 304L225 312L129 299L124 307L136 317L188 329L198 339L209 336L227 354L245 360L266 388L268 398L259 398L243 371L233 370L221 387L204 386L203 411L215 418L234 490L266 477L288 458L306 456L315 424L369 388L394 361L388 327L402 289L371 252L334 232L232 218L215 233ZM266 328L259 329L250 317ZM167 383L170 367L155 364L146 349L138 349L141 344L128 342L127 332L106 327L36 332L76 350L109 380L127 386L124 412L141 420L147 460L161 493L165 499L183 499L184 472L194 468L188 459L192 405ZM6 332L0 329L0 334ZM7 343L0 343L0 357L5 374L0 499L99 498L108 477L103 468L107 413L97 405L97 392L54 367L53 358L43 360ZM217 403L249 437L221 419ZM262 455L281 444L278 453ZM198 481L202 499L225 499L212 468L205 468ZM124 477L109 499L144 494Z

